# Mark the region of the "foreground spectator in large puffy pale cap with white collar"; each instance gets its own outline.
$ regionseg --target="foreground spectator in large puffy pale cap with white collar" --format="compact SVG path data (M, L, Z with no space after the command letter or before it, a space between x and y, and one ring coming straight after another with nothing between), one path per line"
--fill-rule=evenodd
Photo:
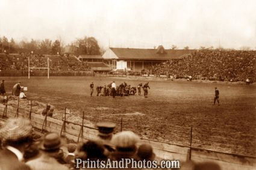
M25 149L33 142L33 127L24 118L10 118L0 129L3 149L0 150L0 169L29 169L23 162Z

